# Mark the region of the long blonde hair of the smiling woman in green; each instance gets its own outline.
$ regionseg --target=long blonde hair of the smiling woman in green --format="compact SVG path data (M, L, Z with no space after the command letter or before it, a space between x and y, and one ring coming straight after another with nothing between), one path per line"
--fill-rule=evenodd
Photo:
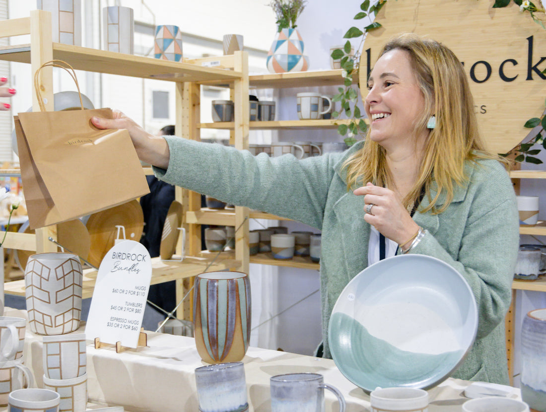
M430 130L426 140L417 180L403 202L406 207L413 205L424 189L430 204L426 208L419 208L419 211L441 213L453 200L455 184L460 185L467 178L467 160L498 157L485 150L478 131L468 80L454 53L435 40L424 39L413 33L403 33L391 39L379 57L391 50L408 53L420 91L424 95L425 108L422 118L417 121L416 131L425 130L430 116L436 116L436 127ZM369 133L361 150L343 164L347 169L348 189L366 182L387 186L391 183L384 148L369 139ZM433 182L437 193L431 199ZM445 193L446 202L438 210L436 202L441 193Z

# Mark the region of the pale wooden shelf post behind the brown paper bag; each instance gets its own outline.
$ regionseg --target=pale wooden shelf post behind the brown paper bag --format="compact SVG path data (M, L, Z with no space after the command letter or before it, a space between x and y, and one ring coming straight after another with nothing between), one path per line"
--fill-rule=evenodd
M34 73L45 62L53 59L53 40L51 28L51 13L44 10L32 10L30 15L31 34L31 84L34 84ZM45 108L54 110L53 102L53 68L45 67L39 73L38 85L44 97ZM39 111L38 97L32 95L32 110ZM57 246L48 240L49 237L57 239L57 226L46 226L36 229L36 251L57 252Z

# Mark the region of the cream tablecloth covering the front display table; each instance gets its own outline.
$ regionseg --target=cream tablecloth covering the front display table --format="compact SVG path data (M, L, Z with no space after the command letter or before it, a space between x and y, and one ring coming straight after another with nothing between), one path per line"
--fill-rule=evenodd
M6 308L4 316L26 318L26 311ZM84 331L84 325L74 333ZM89 338L89 337L88 337ZM43 384L41 336L27 327L25 364L35 375L38 387ZM370 397L346 379L333 360L281 351L249 348L242 360L250 411L271 410L269 379L278 374L313 372L324 375L327 384L337 387L347 402L347 412L370 410ZM147 346L116 353L112 345L95 349L87 342L87 390L93 404L122 405L127 411L179 412L197 411L194 369L206 365L201 361L193 338L147 332ZM467 401L463 393L469 381L449 378L430 389L429 412L460 412ZM520 398L514 388L511 397ZM337 401L325 391L325 411L337 411Z

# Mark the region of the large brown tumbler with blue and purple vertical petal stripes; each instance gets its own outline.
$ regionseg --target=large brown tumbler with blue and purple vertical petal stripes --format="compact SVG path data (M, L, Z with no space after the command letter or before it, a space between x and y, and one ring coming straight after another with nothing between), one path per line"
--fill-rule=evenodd
M243 359L250 341L250 279L242 272L206 272L195 277L195 345L207 363Z

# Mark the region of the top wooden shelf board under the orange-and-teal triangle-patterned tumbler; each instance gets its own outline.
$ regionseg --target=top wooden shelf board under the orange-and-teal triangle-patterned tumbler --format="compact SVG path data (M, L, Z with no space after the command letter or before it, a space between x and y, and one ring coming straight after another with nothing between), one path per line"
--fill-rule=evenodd
M70 63L76 70L140 77L143 79L187 82L207 80L233 81L241 77L240 72L233 70L203 67L189 63L127 55L62 43L53 43L53 58ZM23 44L0 47L0 59L10 62L30 63L31 45Z

